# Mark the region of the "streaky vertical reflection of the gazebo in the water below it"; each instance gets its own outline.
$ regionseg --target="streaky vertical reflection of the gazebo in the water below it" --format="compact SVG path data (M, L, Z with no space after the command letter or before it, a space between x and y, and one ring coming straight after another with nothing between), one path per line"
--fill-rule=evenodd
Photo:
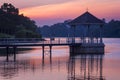
M103 55L70 57L68 80L105 80L102 74Z

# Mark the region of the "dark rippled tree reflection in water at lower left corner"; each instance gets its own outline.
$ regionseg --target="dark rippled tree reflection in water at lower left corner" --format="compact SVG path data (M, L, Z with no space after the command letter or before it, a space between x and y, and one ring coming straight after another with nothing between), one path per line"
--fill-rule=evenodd
M14 76L17 76L17 73L20 70L26 71L29 66L30 64L28 63L28 61L0 62L0 75L6 79L10 79Z

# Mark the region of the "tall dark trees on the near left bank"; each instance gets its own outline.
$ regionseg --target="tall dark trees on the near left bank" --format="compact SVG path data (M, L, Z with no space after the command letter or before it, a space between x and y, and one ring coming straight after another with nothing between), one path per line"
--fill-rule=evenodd
M0 8L0 38L41 38L35 21L19 14L19 9L4 3Z

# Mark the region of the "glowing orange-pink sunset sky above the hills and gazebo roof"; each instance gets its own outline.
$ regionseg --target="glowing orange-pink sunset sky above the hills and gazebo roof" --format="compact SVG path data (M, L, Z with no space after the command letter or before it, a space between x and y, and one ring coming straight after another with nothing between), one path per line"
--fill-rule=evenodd
M100 3L101 2L101 3ZM94 4L94 5L93 5ZM49 4L43 6L23 8L20 10L20 14L24 14L32 19L40 20L40 22L52 20L67 20L74 19L85 11L91 12L96 17L102 19L118 19L120 17L120 11L118 11L119 2L118 1L71 1L61 4Z

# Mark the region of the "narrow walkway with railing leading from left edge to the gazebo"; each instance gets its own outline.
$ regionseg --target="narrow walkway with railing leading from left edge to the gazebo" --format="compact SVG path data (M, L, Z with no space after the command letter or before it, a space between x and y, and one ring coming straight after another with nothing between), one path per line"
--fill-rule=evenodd
M12 47L12 46L70 46L70 45L80 45L81 43L70 42L67 40L47 40L47 41L2 41L0 42L0 47Z

